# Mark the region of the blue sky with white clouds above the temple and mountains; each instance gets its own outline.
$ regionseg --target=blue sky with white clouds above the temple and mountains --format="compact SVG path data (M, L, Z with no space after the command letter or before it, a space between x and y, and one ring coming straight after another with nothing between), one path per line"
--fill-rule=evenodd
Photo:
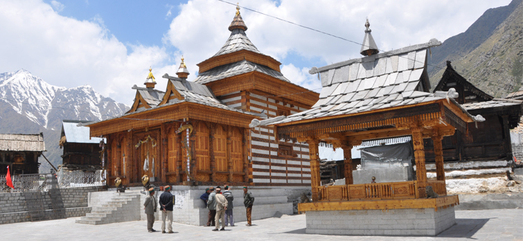
M238 0L237 0L238 1ZM236 3L236 1L235 1ZM369 18L373 37L384 50L444 41L463 33L488 8L508 0L240 1L269 15L355 42ZM217 0L42 1L0 0L0 73L26 69L60 87L89 84L127 105L133 84L141 85L149 66L159 84L174 75L184 55L191 75L229 37L236 9ZM262 53L282 63L285 77L309 89L321 87L312 66L360 57L360 46L312 32L242 8L247 36Z

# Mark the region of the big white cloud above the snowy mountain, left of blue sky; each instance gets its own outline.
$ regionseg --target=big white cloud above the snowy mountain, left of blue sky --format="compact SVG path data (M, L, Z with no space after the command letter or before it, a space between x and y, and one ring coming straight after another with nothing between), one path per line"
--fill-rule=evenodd
M1 73L26 69L58 86L90 84L103 96L127 105L134 98L132 84L145 81L149 66L164 86L161 75L177 70L165 64L169 62L165 48L125 45L100 17L91 21L63 17L42 1L3 2L0 32L10 36L0 39Z

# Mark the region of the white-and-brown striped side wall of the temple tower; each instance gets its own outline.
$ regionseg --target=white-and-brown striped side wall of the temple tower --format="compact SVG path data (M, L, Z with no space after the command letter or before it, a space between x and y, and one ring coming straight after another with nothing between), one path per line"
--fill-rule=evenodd
M262 94L238 91L220 100L229 107L243 109L255 113L267 114L269 118L277 116L278 111L295 114L306 110L274 100ZM251 130L251 156L253 181L256 186L310 186L310 159L307 143L292 143L292 141L275 140L274 129L271 127L256 127ZM279 152L281 145L292 148L292 155Z

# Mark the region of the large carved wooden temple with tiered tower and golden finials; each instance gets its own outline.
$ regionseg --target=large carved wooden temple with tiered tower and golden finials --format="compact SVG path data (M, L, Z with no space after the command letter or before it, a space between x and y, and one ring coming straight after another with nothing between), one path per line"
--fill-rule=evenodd
M229 30L194 81L183 57L177 77L163 75L165 91L154 89L150 69L145 87L133 87L130 111L87 124L107 139L109 186L116 177L139 186L143 175L152 184L310 186L308 145L249 123L310 109L319 94L292 84L280 62L258 51L239 8Z

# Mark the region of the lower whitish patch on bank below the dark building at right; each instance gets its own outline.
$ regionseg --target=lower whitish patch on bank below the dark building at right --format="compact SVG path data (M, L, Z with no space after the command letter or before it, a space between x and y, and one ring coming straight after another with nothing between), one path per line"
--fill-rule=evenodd
M506 181L503 177L449 179L447 193L482 193L488 190L505 188Z

